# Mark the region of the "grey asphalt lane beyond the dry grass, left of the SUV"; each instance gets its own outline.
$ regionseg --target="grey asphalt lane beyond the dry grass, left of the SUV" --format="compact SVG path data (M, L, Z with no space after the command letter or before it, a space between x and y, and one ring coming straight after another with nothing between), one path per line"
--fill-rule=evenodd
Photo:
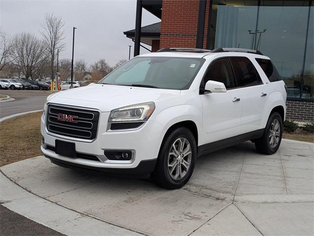
M14 101L0 102L0 118L44 107L46 98L52 91L40 90L0 90L0 94L14 98Z

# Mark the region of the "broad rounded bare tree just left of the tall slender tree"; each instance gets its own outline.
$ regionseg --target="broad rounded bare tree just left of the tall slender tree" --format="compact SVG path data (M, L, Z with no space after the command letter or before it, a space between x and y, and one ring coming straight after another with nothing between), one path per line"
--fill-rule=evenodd
M13 39L13 56L25 78L36 79L47 59L47 51L43 41L33 34L19 33Z

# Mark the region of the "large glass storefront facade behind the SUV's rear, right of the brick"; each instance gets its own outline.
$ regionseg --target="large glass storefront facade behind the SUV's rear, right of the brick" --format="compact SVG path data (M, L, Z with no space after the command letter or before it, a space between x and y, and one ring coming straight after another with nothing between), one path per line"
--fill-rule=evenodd
M213 0L209 49L260 50L276 66L288 86L289 98L313 99L314 20L310 2L313 5L309 0Z

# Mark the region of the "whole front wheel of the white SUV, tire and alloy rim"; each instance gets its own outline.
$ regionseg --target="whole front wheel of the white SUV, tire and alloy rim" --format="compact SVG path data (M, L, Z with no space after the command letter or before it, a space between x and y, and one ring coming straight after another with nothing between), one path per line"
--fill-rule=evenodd
M182 187L192 176L196 155L192 132L185 127L173 130L161 144L153 179L167 189Z

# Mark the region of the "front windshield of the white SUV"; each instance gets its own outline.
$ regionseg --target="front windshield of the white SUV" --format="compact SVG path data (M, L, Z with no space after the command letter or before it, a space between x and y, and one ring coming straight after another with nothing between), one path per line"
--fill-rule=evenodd
M201 58L138 57L118 67L99 83L188 89L204 61Z

